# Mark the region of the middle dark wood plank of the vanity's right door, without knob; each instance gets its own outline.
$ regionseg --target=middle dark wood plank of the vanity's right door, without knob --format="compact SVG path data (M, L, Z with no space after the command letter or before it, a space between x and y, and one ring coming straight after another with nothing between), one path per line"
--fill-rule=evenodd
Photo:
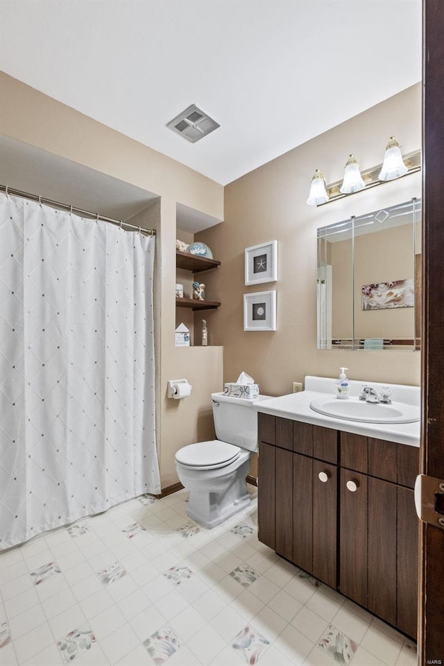
M368 477L368 610L396 624L396 486Z

